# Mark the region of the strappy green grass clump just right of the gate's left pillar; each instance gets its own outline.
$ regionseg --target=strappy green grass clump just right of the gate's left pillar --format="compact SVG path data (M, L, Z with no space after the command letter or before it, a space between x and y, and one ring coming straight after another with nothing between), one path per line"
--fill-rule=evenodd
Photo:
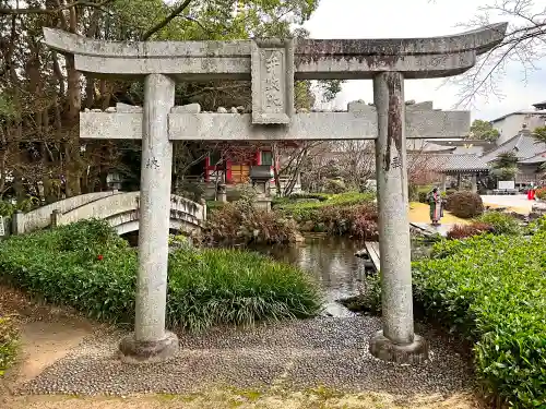
M302 270L238 250L179 251L169 261L167 321L194 330L217 324L305 318L321 309Z

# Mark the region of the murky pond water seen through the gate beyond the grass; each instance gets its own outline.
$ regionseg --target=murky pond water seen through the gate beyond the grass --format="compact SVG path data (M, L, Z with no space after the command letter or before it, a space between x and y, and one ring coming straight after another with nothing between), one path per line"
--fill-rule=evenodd
M297 245L254 246L252 250L273 258L297 265L310 272L324 291L324 312L332 316L353 316L354 313L336 302L357 296L366 275L365 262L355 256L364 242L345 237L307 236ZM428 245L412 241L412 256L424 256ZM373 274L368 270L367 274Z

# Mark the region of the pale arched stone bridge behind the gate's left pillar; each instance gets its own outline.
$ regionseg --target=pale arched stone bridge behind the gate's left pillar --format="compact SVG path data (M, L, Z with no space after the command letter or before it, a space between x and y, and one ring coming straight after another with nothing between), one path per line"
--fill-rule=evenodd
M37 208L26 214L16 214L14 233L22 234L50 226L62 226L87 219L100 218L116 229L118 234L139 230L140 192L97 192L82 194ZM201 229L206 219L206 206L170 196L170 228L186 233Z

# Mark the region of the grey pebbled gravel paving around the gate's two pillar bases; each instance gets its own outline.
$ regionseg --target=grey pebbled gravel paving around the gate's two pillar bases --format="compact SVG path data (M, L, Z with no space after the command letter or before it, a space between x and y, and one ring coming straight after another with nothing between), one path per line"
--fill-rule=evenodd
M405 399L472 388L470 364L456 352L456 345L418 328L430 341L431 361L418 366L389 364L368 352L367 341L379 328L378 318L361 316L218 328L201 336L180 335L181 348L174 360L145 366L124 365L116 359L124 334L96 333L16 393L126 396L218 387L294 392L325 385Z

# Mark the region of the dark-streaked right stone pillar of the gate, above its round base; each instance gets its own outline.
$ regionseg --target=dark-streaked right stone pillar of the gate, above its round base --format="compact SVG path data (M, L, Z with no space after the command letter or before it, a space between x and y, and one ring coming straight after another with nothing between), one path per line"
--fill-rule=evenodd
M402 74L378 74L373 79L373 101L379 129L376 175L383 333L394 344L411 344L414 321Z

